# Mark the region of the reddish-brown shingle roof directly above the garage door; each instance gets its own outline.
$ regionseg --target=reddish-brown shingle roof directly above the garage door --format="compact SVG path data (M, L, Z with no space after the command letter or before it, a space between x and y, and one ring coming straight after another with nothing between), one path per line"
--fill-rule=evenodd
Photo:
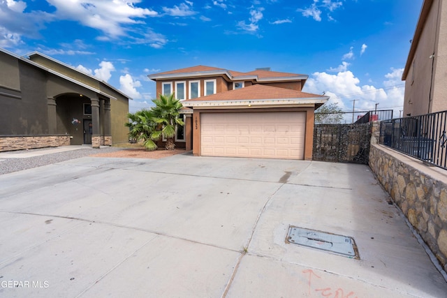
M249 87L224 91L221 93L193 98L189 101L212 101L212 100L258 100L258 99L285 99L285 98L327 98L318 94L310 94L302 91L284 89L261 84Z

